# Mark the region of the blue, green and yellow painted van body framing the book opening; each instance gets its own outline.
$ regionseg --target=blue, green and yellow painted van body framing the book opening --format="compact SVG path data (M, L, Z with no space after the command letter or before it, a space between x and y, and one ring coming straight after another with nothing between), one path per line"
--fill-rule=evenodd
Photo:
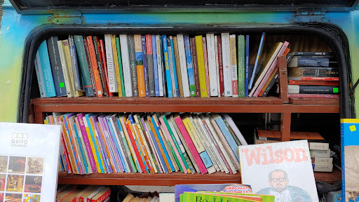
M353 81L359 79L359 11L296 16L292 12L154 12L91 13L75 18L54 15L19 15L6 0L0 27L0 121L18 121L22 59L27 36L42 25L173 27L176 25L236 25L243 27L287 26L295 22L327 22L343 29L348 37ZM357 33L357 34L355 34ZM34 86L37 88L37 86ZM355 94L355 97L358 93ZM359 99L355 99L359 102ZM355 105L359 106L359 105ZM355 107L357 109L357 107Z

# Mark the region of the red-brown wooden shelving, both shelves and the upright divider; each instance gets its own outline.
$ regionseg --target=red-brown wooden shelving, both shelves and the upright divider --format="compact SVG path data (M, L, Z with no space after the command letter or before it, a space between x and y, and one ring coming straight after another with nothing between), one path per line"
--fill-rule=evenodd
M281 141L290 140L292 114L339 114L339 99L289 98L285 56L278 57L279 97L47 97L30 102L30 121L43 123L50 112L217 112L217 113L278 113L281 114ZM341 171L315 173L323 182L337 182ZM163 185L240 183L241 173L234 175L183 173L94 173L74 175L60 172L59 184Z

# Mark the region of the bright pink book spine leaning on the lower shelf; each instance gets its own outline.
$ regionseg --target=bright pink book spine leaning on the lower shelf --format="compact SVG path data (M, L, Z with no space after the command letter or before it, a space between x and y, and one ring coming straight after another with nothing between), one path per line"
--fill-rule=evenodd
M203 161L201 157L199 156L196 147L194 146L194 142L192 142L191 137L189 137L189 134L187 133L186 128L184 127L182 123L182 119L180 116L175 117L175 121L177 123L177 126L179 130L181 131L181 134L184 138L184 140L187 142L189 150L191 151L192 156L194 156L194 161L196 161L197 166L202 174L207 173L207 168L205 168L205 165L203 164Z

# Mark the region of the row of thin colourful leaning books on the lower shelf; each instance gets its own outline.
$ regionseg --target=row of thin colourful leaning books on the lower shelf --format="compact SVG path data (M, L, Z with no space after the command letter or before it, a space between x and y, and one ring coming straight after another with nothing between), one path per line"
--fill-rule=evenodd
M88 173L237 173L247 144L228 114L56 114L60 170Z

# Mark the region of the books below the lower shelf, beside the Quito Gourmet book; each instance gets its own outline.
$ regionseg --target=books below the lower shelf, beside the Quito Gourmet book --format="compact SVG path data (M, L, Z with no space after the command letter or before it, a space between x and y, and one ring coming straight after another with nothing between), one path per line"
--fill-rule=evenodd
M57 189L57 202L74 202L74 201L89 201L89 202L109 202L111 196L111 189L109 187L88 185L87 187L77 187L77 185L65 185Z

